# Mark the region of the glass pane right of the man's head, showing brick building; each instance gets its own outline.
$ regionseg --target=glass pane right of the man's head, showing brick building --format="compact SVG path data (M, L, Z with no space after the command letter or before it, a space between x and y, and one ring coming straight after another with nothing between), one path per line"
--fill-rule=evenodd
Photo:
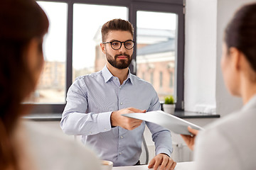
M137 76L154 86L160 101L176 96L176 21L175 13L137 11Z

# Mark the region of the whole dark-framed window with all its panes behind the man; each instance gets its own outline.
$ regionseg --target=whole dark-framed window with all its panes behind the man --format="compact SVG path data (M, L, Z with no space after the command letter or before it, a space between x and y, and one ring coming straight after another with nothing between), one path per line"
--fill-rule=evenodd
M34 113L62 113L75 78L104 67L100 28L113 18L128 19L134 26L132 74L149 81L160 101L166 94L177 96L176 108L182 109L183 1L40 0L38 4L48 15L50 29L43 44L43 76L30 101L36 103Z

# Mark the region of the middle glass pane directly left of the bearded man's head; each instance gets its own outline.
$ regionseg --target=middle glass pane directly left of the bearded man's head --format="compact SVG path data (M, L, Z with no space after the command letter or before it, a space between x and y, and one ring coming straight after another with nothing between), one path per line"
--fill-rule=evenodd
M105 66L105 55L100 50L100 30L104 23L114 18L127 20L127 8L74 4L73 81L78 76L100 71Z

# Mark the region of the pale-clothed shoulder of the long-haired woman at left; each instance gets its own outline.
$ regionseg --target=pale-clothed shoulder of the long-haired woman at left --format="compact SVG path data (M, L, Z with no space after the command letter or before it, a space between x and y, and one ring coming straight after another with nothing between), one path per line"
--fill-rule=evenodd
M36 122L23 125L40 169L100 169L95 153L73 136Z

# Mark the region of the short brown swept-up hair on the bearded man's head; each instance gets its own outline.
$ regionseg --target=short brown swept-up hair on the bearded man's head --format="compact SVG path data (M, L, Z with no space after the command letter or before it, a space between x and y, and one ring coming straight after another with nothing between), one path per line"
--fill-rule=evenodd
M107 33L109 33L110 30L127 30L132 34L132 36L134 35L132 23L122 19L113 19L111 21L107 21L107 23L102 26L102 42L105 42Z

